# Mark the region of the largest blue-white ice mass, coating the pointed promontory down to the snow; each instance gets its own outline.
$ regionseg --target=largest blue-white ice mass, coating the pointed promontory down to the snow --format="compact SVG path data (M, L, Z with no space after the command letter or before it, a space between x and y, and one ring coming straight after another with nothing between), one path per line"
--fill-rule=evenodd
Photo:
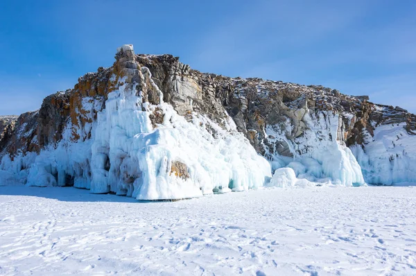
M146 67L129 70L147 76L155 86ZM96 121L78 128L80 137L89 132L92 137L72 141L69 123L56 148L45 148L34 158L19 155L13 162L3 157L1 169L31 158L30 166L15 170L26 171L28 186L64 186L73 181L74 187L92 193L114 192L139 200L243 191L261 187L271 178L268 161L236 131L232 120L226 130L195 112L187 121L163 103L162 96L159 105L144 102L139 83L123 77L116 86ZM83 99L83 113L88 116L99 106L96 99ZM163 121L153 127L150 115L156 111L163 114Z

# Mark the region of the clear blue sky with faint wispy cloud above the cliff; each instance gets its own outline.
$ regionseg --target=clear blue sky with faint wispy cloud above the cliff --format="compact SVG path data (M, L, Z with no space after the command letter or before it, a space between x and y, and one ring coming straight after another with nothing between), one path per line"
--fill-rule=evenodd
M2 0L0 114L38 109L122 44L416 112L416 1Z

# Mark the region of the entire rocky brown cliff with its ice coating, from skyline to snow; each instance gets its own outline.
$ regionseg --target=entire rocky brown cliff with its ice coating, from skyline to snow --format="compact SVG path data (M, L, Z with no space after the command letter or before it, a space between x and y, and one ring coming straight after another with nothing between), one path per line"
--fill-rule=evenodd
M416 182L416 117L320 85L201 73L117 49L112 67L0 117L0 184L139 200L263 186Z

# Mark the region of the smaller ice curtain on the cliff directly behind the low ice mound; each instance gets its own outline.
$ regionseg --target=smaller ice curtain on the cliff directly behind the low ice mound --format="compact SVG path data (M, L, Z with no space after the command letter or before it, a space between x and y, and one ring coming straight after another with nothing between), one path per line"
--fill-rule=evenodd
M266 128L269 144L285 144L290 151L290 155L282 156L277 150L267 148L272 153L268 157L273 170L288 166L297 178L311 182L365 185L361 167L352 151L337 139L338 135L344 135L338 133L342 123L340 114L306 110L302 123L306 126L304 133L291 139L288 139L293 130L290 119L285 124Z

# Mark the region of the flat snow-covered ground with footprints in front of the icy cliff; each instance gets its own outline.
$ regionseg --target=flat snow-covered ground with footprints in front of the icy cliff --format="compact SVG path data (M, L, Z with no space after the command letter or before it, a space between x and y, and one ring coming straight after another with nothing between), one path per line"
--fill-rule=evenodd
M416 187L177 202L0 187L1 275L416 275Z

